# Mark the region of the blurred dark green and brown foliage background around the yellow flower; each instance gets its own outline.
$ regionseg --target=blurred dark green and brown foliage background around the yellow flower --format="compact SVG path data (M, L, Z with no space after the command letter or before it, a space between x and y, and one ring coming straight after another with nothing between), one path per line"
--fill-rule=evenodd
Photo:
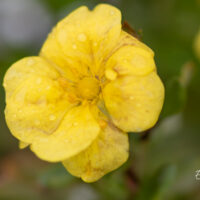
M28 149L19 150L4 120L0 86L0 200L199 200L200 61L194 38L200 0L0 0L0 82L18 59L37 55L58 20L80 5L117 6L155 51L166 99L158 124L130 135L130 158L93 184Z

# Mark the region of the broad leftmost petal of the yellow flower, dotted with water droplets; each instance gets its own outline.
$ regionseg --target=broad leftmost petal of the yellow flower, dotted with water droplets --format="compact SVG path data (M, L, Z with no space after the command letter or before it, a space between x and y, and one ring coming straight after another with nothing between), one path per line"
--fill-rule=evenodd
M73 104L58 79L59 74L37 57L22 59L8 70L4 79L5 117L16 138L32 143L59 126Z

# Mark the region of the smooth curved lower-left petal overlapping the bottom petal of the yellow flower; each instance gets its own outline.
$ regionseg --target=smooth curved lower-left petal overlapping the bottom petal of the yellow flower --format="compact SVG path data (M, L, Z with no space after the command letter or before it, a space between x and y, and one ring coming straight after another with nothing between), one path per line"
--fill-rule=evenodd
M99 130L88 106L75 107L52 135L35 140L31 150L43 160L65 160L86 149L96 139Z

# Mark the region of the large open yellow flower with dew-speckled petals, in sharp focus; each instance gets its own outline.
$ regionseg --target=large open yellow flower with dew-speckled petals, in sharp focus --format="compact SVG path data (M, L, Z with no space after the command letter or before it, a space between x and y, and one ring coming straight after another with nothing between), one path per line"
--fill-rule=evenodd
M110 5L83 6L60 21L40 55L14 63L4 79L5 116L20 148L61 161L93 182L128 158L126 132L152 127L164 88L154 53L121 29Z

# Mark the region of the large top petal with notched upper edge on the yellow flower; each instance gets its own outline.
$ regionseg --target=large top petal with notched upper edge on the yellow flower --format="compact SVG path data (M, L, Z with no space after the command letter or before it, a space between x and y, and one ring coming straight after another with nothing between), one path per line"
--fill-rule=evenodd
M53 29L41 55L60 67L71 79L95 74L121 32L121 13L101 4L93 11L83 6L64 18ZM71 74L70 74L71 73Z

